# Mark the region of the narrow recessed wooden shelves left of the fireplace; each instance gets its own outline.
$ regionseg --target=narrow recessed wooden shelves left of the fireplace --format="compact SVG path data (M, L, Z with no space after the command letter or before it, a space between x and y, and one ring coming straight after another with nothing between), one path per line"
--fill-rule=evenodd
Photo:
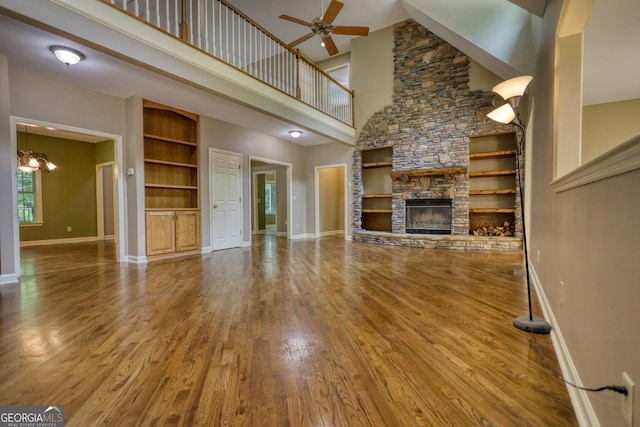
M362 228L391 232L393 147L362 150Z

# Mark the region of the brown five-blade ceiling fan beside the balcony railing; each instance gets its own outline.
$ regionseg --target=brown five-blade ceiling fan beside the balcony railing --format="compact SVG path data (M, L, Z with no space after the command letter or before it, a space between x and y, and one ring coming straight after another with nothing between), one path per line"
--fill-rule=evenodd
M302 19L294 18L289 15L280 15L281 19L286 21L295 22L296 24L304 25L305 27L309 27L311 29L311 33L305 34L289 43L287 47L291 48L299 45L300 43L309 40L313 36L318 36L322 39L324 47L327 49L327 52L330 56L338 53L338 48L331 38L331 34L340 34L347 36L366 36L369 34L369 27L345 27L332 25L333 21L338 16L340 9L344 6L343 3L340 3L337 0L331 0L327 10L324 12L323 16L319 16L317 18L313 18L311 22L304 21Z

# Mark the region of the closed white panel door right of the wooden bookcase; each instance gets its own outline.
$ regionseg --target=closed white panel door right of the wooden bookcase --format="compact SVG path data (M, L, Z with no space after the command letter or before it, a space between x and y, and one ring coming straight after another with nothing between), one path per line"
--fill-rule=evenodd
M242 170L240 154L211 150L211 246L242 244Z

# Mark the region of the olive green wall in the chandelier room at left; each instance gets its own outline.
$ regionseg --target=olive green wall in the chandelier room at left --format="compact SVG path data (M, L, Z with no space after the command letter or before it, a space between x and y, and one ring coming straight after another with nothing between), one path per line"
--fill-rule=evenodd
M18 148L25 148L27 143L30 150L45 153L58 167L41 172L44 224L21 226L20 240L96 236L95 165L98 158L100 163L113 159L113 142L92 144L18 132ZM72 231L67 231L68 226Z

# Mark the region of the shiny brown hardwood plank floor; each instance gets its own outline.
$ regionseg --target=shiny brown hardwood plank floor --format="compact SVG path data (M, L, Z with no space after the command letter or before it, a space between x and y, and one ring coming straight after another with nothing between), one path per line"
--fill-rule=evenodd
M67 426L577 425L512 326L520 253L265 237L137 266L113 250L22 250L22 283L0 288L0 404L63 405Z

